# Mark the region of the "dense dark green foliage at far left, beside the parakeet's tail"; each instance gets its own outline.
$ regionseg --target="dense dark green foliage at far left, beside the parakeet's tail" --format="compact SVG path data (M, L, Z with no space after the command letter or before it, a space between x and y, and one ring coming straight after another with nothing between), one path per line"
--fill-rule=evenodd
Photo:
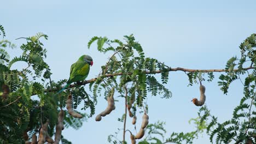
M8 40L0 41L0 143L24 143L23 135L28 132L31 138L33 134L38 134L46 119L50 121L49 135L54 134L60 98L46 91L60 86L60 82L50 79L50 68L44 61L46 49L40 38L47 39L48 36L38 33L25 38L27 43L20 46L22 55L12 59L7 49L15 45ZM25 62L26 67L15 69L14 64L20 61ZM85 119L86 115L83 119L66 116L64 123L66 127L78 129ZM66 139L62 140L68 143Z

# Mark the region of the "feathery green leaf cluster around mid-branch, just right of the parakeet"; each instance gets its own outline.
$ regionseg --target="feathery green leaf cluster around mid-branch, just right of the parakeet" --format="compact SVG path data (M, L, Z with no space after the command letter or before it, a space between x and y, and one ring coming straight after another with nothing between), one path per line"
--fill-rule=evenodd
M125 43L120 40L109 40L106 37L94 37L88 47L94 41L97 41L97 49L100 52L106 53L113 51L113 55L109 58L106 65L102 65L101 73L97 80L90 83L90 90L93 93L94 99L97 95L104 93L105 97L111 87L117 87L117 91L125 97L125 87L127 89L128 103L132 94L136 95L136 105L142 107L143 101L147 98L148 93L151 95L162 95L161 98L171 98L172 93L164 86L168 81L168 69L164 63L157 61L154 58L144 56L142 46L135 41L133 35L124 36ZM118 44L114 47L112 44ZM106 45L107 47L104 47ZM161 82L153 75L154 71L161 70ZM146 73L148 71L148 73ZM152 74L150 74L152 73ZM117 77L113 74L120 74ZM113 75L106 77L106 75ZM104 92L102 92L104 90Z

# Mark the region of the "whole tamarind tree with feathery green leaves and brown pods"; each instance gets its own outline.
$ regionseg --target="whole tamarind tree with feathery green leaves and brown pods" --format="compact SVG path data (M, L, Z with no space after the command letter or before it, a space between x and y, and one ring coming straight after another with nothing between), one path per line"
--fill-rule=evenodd
M4 37L5 32L1 25L0 30ZM158 59L146 57L142 46L133 35L125 35L124 41L93 37L88 43L89 49L92 43L97 43L99 52L113 54L102 65L97 77L74 83L57 95L67 80L51 79L51 69L45 62L46 49L40 41L42 38L47 39L48 36L38 33L24 38L27 43L20 46L22 55L12 59L7 49L15 46L8 40L0 41L0 143L71 143L61 135L61 131L68 127L78 129L85 119L94 116L100 95L104 95L108 106L96 116L96 121L102 121L102 117L111 115L116 109L115 97L120 95L125 101L124 115L119 119L124 123L121 128L123 140L109 135L108 142L130 141L125 137L126 132L131 133L131 130L126 129L128 115L133 118L132 124L136 124L138 118L143 119L138 133L131 133L131 143L192 143L204 130L210 135L212 143L256 142L256 34L241 43L241 56L231 57L224 69L208 70L171 68ZM13 64L19 61L26 62L27 67L22 70L13 68ZM149 105L145 99L149 95L158 94L162 95L162 99L172 97L171 91L166 88L168 74L172 71L184 71L190 86L197 81L211 82L215 78L215 72L223 72L218 83L224 94L228 93L232 82L243 81L244 95L240 105L234 109L233 117L219 123L217 116L211 115L208 107L203 105L204 101L200 101L198 106L203 106L198 112L199 117L191 119L197 125L196 131L173 132L167 136L164 122L150 124L150 116L147 115ZM161 79L157 79L155 74L160 74ZM240 79L241 75L246 77L245 80ZM85 91L85 85L89 85L90 92ZM203 97L205 90L200 91ZM78 105L83 105L82 110L86 113L75 111ZM67 111L73 114L69 115ZM142 118L136 116L139 112L144 113Z

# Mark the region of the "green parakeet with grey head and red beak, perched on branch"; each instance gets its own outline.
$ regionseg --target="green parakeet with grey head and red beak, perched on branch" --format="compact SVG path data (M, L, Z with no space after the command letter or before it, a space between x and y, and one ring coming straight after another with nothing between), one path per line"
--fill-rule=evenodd
M90 65L92 66L92 64L94 64L94 62L90 56L83 55L79 57L78 61L71 65L67 85L63 87L57 94L64 91L64 89L67 88L72 82L83 81L88 76Z

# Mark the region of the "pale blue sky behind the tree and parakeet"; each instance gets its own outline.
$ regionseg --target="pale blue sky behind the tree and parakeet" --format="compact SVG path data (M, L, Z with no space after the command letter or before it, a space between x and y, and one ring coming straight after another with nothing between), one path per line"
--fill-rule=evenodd
M190 69L223 69L232 56L239 56L238 46L256 31L256 1L2 1L0 23L6 39L17 46L38 32L49 36L42 40L48 50L46 62L52 70L51 79L68 79L72 63L83 55L94 59L87 79L97 76L111 53L103 55L96 45L87 48L94 36L123 40L134 34L147 57L156 58L166 65ZM10 51L18 55L18 49ZM21 67L22 63L16 64ZM206 105L219 122L232 117L232 111L242 98L242 83L235 81L224 95L218 87L219 73L206 86ZM166 85L173 94L171 99L148 96L149 123L166 122L166 138L173 131L195 130L189 124L197 117L199 107L191 99L199 98L199 85L187 87L187 75L171 72ZM85 89L89 88L88 86ZM118 99L118 98L117 98ZM63 136L73 143L108 143L107 136L114 134L123 123L117 119L124 113L124 100L118 99L116 110L95 122L95 116L84 122L79 130L63 130ZM98 98L96 114L103 111L106 101ZM137 116L139 117L139 116ZM137 124L141 121L137 121ZM131 129L131 118L127 119ZM139 127L139 125L137 126ZM130 134L127 134L129 141ZM119 134L121 139L121 133ZM194 143L210 143L206 134Z

